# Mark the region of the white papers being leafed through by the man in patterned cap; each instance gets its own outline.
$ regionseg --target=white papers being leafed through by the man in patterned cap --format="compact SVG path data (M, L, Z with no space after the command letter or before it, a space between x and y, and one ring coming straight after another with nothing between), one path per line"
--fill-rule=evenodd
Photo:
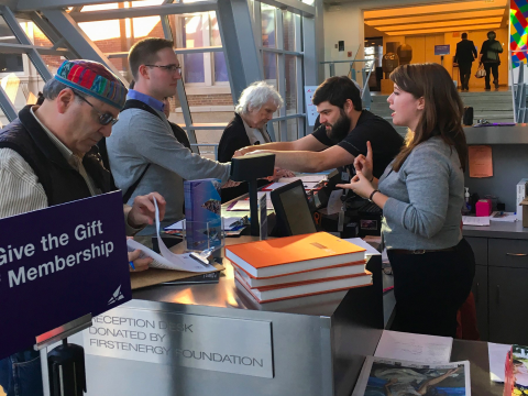
M156 234L161 254L157 254L152 249L148 249L145 245L131 239L127 240L127 246L129 249L129 252L133 252L134 250L140 249L142 251L140 257L154 258L154 261L150 265L153 268L177 270L193 273L206 273L217 271L213 265L202 264L190 257L190 253L175 254L167 249L162 238L160 237L160 209L157 208L157 202L155 198L154 206L156 208Z

